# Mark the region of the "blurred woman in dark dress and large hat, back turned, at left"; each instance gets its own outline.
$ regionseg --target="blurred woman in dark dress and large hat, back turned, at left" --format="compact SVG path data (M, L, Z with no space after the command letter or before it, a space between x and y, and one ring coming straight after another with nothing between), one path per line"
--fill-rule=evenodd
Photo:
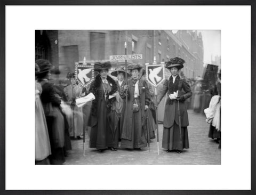
M52 64L48 60L37 60L40 71L37 74L38 82L42 85L41 101L44 108L47 128L49 131L51 164L63 164L65 144L65 122L60 110L61 98L54 86L48 82L51 77Z

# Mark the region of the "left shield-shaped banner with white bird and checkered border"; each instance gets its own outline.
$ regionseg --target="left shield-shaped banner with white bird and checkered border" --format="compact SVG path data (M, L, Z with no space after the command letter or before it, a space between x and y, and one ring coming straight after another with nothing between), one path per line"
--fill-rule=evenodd
M78 85L87 87L94 80L94 64L76 62L75 75Z

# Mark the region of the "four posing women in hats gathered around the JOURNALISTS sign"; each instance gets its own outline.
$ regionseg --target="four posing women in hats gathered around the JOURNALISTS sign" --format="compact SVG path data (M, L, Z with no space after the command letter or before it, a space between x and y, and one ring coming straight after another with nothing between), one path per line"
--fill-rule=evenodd
M165 80L156 100L159 104L166 93L169 96L164 111L162 143L167 152L181 153L183 149L189 148L189 123L185 100L192 93L186 80L179 76L183 63L185 61L180 58L171 59L166 63L166 68L171 71L172 76ZM116 151L118 141L121 141L121 148L141 150L147 147L148 137L154 137L154 132L150 135L147 131L149 127L153 131L155 128L148 125L148 116L153 116L153 120L149 121L156 121L154 110L157 104L154 104L149 84L142 78L142 67L139 64L127 66L131 72L127 83L124 78L129 74L125 73L124 69L111 72L111 75L118 78L115 82L108 75L110 68L109 62L94 65L94 70L98 71L99 75L90 87L90 93L95 96L89 118L90 148L96 148L99 152L106 149Z

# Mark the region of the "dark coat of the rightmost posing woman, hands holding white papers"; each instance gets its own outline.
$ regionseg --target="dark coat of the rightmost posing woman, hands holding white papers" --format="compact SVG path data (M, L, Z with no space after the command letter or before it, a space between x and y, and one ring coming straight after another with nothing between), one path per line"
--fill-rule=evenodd
M175 83L172 83L172 77L169 80L165 80L163 84L163 88L160 90L158 94L158 103L163 99L164 95L167 93L167 101L165 104L164 110L164 127L170 128L173 126L174 121L179 125L178 118L178 101L171 100L169 98L169 94L173 93L173 91L179 91L179 96L181 97L179 101L180 115L181 115L181 127L187 127L188 123L188 112L185 105L185 100L188 99L192 92L190 90L190 86L186 82L185 79L179 77L179 75L175 79Z

